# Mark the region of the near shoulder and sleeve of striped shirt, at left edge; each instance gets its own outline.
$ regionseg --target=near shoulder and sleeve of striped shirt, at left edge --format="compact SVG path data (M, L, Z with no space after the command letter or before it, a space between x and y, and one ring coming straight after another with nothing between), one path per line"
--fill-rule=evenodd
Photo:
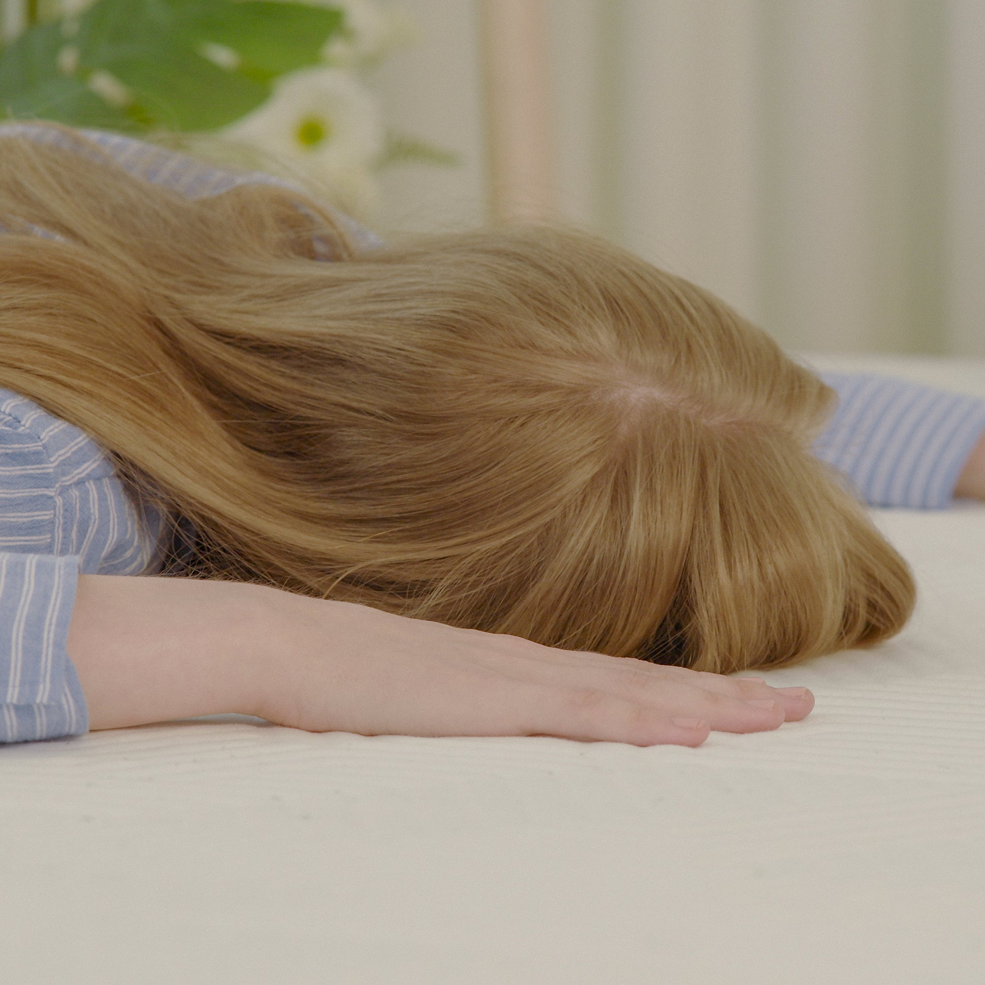
M92 438L0 389L0 741L88 729L65 648L78 574L155 573L164 519Z

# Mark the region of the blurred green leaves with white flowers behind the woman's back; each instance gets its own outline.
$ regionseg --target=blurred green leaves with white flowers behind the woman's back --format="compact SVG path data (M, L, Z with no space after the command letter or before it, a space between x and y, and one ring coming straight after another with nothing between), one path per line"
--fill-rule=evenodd
M406 41L371 0L0 0L0 117L115 130L310 179L367 218L374 172L454 155L383 125L363 77ZM17 16L10 16L16 14Z

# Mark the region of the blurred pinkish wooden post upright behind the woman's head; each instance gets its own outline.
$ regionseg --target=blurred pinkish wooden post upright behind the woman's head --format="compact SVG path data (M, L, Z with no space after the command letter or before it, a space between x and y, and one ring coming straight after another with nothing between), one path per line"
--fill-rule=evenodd
M493 222L556 214L554 104L546 0L482 0Z

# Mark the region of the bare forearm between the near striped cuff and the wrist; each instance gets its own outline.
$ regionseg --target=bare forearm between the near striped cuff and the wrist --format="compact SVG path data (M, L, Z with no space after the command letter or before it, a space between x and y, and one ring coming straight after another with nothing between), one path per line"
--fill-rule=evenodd
M275 589L187 578L79 576L68 633L90 728L255 714L276 643Z

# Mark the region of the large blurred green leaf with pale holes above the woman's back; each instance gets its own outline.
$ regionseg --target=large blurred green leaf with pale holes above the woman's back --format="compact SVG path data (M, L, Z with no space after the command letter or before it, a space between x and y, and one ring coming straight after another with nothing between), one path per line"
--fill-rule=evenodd
M0 52L0 99L19 115L111 129L220 129L269 98L273 80L319 61L338 10L270 0L98 0L75 22L78 66L59 72L58 25L36 25ZM230 48L231 67L203 54ZM108 72L129 92L112 106L86 86Z

